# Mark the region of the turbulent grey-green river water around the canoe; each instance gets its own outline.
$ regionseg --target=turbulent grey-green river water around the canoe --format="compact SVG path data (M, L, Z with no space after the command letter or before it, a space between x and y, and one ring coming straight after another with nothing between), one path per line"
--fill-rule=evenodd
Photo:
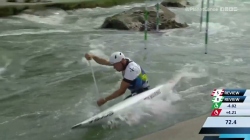
M141 59L142 32L98 29L106 17L140 5L54 9L42 13L47 16L0 19L0 139L131 140L209 112L214 88L249 87L249 2L215 1L213 7L238 11L210 12L208 54L205 23L199 31L200 3L193 11L170 8L189 27L149 34L147 61ZM136 111L115 129L71 130L100 111L84 54L108 58L114 51L141 64L151 87L166 84L164 97L148 103L150 116ZM102 95L118 88L120 73L94 62L92 66Z

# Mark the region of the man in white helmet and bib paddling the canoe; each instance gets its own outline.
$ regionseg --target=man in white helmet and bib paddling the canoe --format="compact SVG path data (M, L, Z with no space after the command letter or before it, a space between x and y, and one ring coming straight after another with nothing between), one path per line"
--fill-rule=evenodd
M113 66L114 69L122 72L123 75L120 88L110 96L99 99L97 101L98 106L123 95L127 89L131 91L131 95L125 99L149 89L148 78L144 70L138 64L125 57L122 52L111 54L109 61L89 53L85 54L85 58L87 60L94 59L96 63L101 65Z

